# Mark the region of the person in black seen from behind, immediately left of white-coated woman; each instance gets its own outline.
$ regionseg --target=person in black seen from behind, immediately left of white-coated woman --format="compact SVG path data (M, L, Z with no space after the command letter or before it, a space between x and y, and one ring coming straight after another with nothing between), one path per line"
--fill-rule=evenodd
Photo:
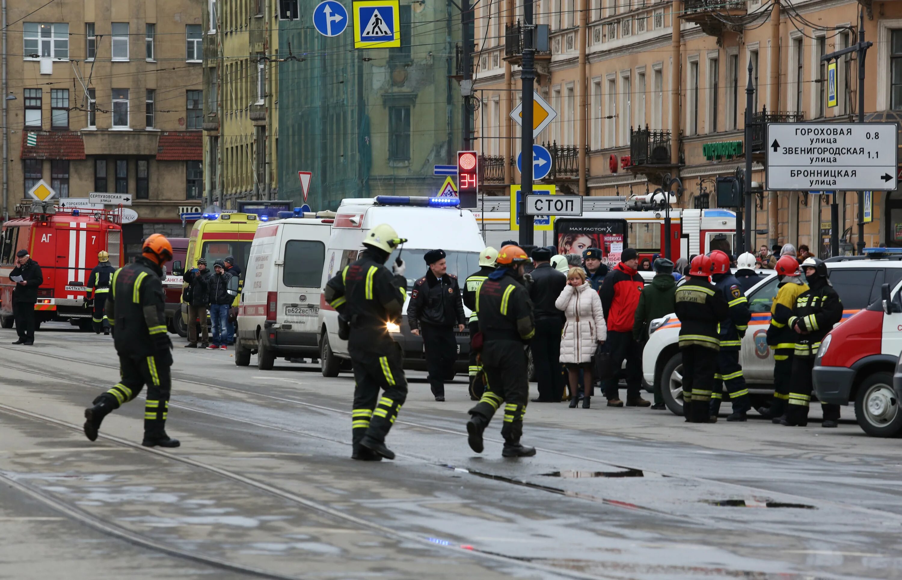
M558 360L564 315L557 308L556 300L566 289L567 277L551 267L548 248L533 250L532 263L535 267L529 273L532 283L527 290L532 301L536 335L529 342L529 351L538 382L538 399L532 401L557 403L564 396L564 377Z

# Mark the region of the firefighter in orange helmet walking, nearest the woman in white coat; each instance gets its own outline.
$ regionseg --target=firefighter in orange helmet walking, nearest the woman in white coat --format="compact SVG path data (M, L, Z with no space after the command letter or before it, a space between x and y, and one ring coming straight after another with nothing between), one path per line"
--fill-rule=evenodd
M483 397L470 410L470 420L466 424L470 448L476 453L483 452L483 430L504 403L502 456L536 455L534 447L520 444L523 415L529 399L526 345L536 334L532 303L524 280L527 262L529 256L520 246L505 245L498 253L498 269L489 274L476 293L486 382Z

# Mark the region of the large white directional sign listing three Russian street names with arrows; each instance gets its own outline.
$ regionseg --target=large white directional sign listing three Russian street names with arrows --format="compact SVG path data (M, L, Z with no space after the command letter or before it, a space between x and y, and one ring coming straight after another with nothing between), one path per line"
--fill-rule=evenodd
M894 123L770 123L770 191L897 188L898 131Z

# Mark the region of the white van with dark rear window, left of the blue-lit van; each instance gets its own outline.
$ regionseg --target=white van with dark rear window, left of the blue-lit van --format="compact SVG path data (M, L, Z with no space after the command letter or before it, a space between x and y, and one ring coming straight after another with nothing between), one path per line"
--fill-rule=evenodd
M272 369L280 356L319 356L319 304L331 212L262 224L244 272L235 331L235 364ZM320 217L314 217L320 216Z

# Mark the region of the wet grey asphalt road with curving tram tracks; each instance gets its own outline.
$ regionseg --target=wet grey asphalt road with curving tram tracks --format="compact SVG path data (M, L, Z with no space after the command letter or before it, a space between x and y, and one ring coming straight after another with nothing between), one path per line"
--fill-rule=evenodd
M151 450L141 399L81 433L118 380L109 337L0 330L0 578L902 577L902 448L853 420L534 403L538 455L503 459L500 418L481 456L466 445L464 379L437 403L408 373L397 460L358 463L349 374L173 338L182 447Z

